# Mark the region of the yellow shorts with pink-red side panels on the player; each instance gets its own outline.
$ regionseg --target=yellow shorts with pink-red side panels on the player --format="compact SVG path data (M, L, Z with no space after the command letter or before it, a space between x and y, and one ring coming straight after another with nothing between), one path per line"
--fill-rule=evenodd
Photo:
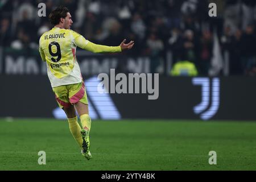
M79 101L88 105L84 81L78 84L57 86L52 90L60 108L69 107Z

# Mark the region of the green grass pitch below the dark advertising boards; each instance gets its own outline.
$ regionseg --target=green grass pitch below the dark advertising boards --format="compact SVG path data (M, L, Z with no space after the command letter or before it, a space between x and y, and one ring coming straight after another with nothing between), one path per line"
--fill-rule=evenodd
M0 170L255 170L256 122L93 121L86 160L67 121L0 119ZM46 165L38 152L46 152ZM210 165L209 151L217 152Z

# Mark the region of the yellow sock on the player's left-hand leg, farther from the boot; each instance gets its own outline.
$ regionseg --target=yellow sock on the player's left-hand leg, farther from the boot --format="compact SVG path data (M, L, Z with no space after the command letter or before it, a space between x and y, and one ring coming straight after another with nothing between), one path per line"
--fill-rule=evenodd
M75 138L76 142L79 144L79 146L82 146L82 136L81 136L81 127L79 123L77 122L77 117L75 118L68 118L68 125L69 129Z

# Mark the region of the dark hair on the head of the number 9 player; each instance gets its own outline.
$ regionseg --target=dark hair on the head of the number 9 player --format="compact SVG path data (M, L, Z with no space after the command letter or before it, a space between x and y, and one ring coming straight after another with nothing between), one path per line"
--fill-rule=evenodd
M53 24L59 24L60 18L65 18L69 10L67 7L59 6L49 14L49 21Z

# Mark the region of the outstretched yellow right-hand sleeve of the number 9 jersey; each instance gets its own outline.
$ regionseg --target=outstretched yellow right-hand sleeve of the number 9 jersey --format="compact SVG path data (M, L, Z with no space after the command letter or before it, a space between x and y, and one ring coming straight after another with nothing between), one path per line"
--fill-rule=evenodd
M84 36L78 34L75 31L72 31L73 42L76 46L85 49L86 51L94 52L94 53L114 53L114 52L122 52L120 46L103 46L99 44L94 44L89 40L86 40Z

